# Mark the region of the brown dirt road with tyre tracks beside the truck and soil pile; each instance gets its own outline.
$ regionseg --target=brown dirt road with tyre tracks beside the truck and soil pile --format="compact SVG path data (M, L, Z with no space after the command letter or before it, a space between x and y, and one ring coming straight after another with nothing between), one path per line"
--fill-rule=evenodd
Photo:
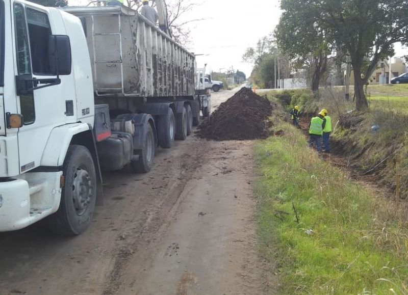
M190 137L160 150L152 172L104 181L82 236L0 234L1 294L261 293L250 142Z

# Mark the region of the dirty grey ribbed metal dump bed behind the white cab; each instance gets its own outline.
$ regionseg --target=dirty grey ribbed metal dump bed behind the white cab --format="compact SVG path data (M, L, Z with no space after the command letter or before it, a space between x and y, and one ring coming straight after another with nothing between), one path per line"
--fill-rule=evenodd
M194 55L124 6L65 7L81 18L96 96L194 95Z

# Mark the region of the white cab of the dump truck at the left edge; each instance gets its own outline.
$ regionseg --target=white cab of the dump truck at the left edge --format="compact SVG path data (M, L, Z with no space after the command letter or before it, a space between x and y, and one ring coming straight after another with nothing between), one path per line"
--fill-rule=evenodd
M0 0L0 14L0 231L9 231L57 212L70 143L91 132L94 108L78 19L10 0ZM85 166L77 167L78 177L95 173ZM73 196L76 203L69 208L79 217L73 225L77 232L90 219L87 206L96 198L95 179L82 180L74 180L72 191L83 192Z

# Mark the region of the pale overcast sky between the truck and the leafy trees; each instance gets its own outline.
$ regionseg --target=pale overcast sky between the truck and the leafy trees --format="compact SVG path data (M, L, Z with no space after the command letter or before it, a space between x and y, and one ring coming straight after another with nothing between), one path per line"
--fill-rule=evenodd
M189 50L208 56L197 57L198 66L207 63L213 71L231 66L250 75L252 65L242 62L249 46L271 33L279 20L278 0L206 0L186 19L206 18L191 26Z

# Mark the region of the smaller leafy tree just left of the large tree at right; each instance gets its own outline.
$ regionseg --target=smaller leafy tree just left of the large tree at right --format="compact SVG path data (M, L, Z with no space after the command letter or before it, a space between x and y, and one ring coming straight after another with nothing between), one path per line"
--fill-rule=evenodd
M311 70L311 88L317 92L320 79L327 70L330 46L325 30L311 17L313 11L299 10L297 2L299 0L281 2L283 14L274 35L279 50L294 60L297 68Z

